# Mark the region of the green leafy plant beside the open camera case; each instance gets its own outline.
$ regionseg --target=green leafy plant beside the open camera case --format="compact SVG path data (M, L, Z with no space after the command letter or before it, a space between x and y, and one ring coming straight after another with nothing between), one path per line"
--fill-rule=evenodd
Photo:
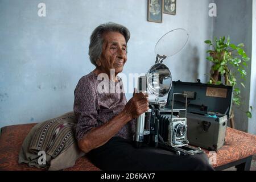
M207 53L209 56L207 60L212 62L212 68L210 74L207 74L210 79L208 84L224 84L233 86L233 104L238 107L241 103L241 90L238 85L242 85L245 88L243 81L246 79L245 67L250 58L247 57L243 47L243 43L235 44L230 43L230 39L221 37L217 39L214 37L213 42L211 40L205 40L205 43L209 45ZM240 77L241 79L238 79ZM241 80L241 81L240 81ZM246 111L247 117L251 118L251 110ZM234 128L234 113L231 111L230 126Z

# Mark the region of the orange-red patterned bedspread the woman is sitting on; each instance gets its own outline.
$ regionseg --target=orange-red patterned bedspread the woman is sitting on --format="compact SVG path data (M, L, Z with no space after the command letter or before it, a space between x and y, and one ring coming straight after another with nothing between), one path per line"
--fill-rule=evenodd
M2 128L0 137L0 170L40 170L18 164L18 153L24 138L26 138L33 124L6 126ZM209 152L205 150L206 152ZM216 164L213 167L234 162L238 159L256 154L256 136L242 131L227 129L226 144L217 152ZM76 161L75 166L65 170L100 170L83 156Z

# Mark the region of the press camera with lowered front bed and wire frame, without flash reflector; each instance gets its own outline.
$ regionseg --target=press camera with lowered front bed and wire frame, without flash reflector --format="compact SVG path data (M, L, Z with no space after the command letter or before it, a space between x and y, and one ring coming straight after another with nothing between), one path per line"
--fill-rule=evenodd
M138 88L141 92L147 90L147 86L143 84L145 80L143 76L138 79ZM171 99L169 97L168 100ZM184 98L184 107L174 109L175 97ZM159 102L158 99L155 97L155 100L150 100L150 109L137 119L135 146L140 148L146 143L149 146L166 148L177 155L204 152L200 148L188 146L187 94L174 93L171 108L166 107L167 101Z

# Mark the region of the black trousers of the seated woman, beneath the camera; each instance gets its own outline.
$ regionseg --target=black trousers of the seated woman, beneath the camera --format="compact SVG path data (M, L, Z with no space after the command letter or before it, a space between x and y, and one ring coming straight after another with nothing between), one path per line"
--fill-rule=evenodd
M113 137L86 156L102 170L111 171L212 171L207 155L175 155L170 151L149 147L135 148L121 137Z

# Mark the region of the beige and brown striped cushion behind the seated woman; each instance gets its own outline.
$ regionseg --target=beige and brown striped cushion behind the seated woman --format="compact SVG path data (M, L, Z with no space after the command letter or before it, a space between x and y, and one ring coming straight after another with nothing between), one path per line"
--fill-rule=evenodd
M77 146L75 124L76 119L72 111L35 125L23 141L19 163L49 170L72 167L76 160L84 155ZM42 162L40 151L45 152L46 163L39 163L39 160Z

